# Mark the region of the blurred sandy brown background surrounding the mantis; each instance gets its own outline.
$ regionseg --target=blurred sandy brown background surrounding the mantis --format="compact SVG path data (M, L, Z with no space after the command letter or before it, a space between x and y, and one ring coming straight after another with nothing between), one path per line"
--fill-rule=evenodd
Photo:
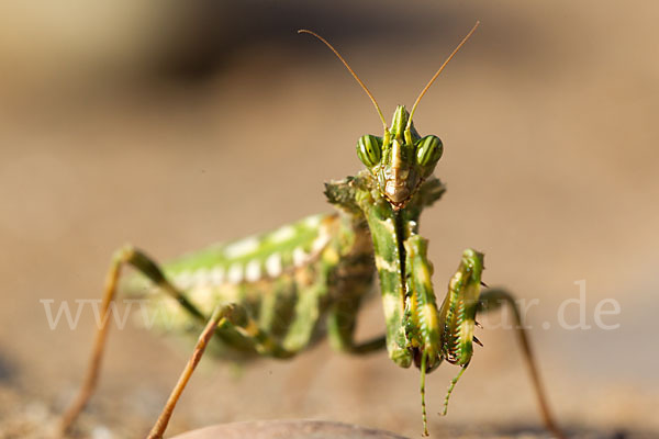
M323 181L359 169L354 145L380 134L377 115L338 60L297 29L332 41L389 119L477 19L415 119L445 144L437 172L448 192L422 224L437 294L463 248L483 250L489 284L540 301L528 319L561 423L603 437L659 435L659 4L409 3L2 2L0 437L52 419L87 364L91 314L77 330L51 330L40 300L99 297L125 241L167 260L325 211ZM580 280L592 328L567 330L557 312L579 297ZM603 320L619 328L599 329L595 306L610 297L621 313ZM380 307L365 309L361 336L382 330ZM577 323L577 306L568 309ZM435 413L457 370L429 376L434 437L539 426L520 350L496 322L479 331L485 347L447 418ZM187 354L113 329L81 426L142 435ZM238 380L203 361L170 434L311 417L416 437L417 382L383 352L350 358L325 344Z

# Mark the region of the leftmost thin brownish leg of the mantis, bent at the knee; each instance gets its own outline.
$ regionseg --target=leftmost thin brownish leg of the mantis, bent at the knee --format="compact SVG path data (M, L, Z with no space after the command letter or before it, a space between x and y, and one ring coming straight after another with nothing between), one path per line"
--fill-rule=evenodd
M181 304L181 306L190 312L192 316L205 322L205 318L199 312L199 309L197 309L180 292L178 292L178 290L176 290L174 285L171 285L165 279L161 270L149 257L130 245L119 249L112 258L112 263L105 278L103 300L101 304L101 324L99 327L97 327L89 367L78 395L62 416L62 420L59 423L60 436L65 436L69 430L80 412L82 412L89 402L89 398L93 394L93 391L97 386L99 372L101 369L101 360L103 358L103 351L108 337L108 329L110 327L108 309L110 307L110 303L114 300L116 294L116 283L121 275L121 269L125 263L135 267L154 283L163 288L168 294L172 295Z

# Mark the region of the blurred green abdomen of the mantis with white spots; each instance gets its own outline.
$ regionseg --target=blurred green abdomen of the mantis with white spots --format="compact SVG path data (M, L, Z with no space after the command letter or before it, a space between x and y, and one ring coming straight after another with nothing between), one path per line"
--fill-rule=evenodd
M268 344L278 346L268 349L243 327L221 326L212 351L224 358L289 357L320 339L324 329L335 348L349 350L359 302L375 272L370 237L353 219L339 213L309 216L270 233L212 245L163 271L200 314L210 316L220 304L239 305L268 335ZM199 325L191 325L190 313L176 297L143 281L134 277L127 286L142 296L146 286L157 328L198 333Z

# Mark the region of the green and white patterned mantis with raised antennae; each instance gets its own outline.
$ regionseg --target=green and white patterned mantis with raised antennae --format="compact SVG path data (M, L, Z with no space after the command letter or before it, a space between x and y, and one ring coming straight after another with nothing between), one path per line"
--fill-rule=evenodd
M477 313L507 303L514 309L517 331L529 365L547 428L554 423L544 396L521 316L503 290L482 292L483 255L467 249L437 306L432 284L428 241L420 235L420 216L444 193L433 176L443 153L442 140L421 136L413 124L418 102L447 63L476 31L462 40L423 89L411 112L395 109L391 125L370 91L343 57L311 31L344 63L371 99L382 121L383 135L365 135L357 156L366 166L355 177L331 181L325 195L334 213L310 216L275 232L213 245L205 250L159 266L145 252L125 246L113 257L105 281L102 324L97 330L85 382L62 420L65 434L83 409L96 386L104 341L107 315L114 300L121 270L129 264L148 281L147 296L168 309L170 329L205 325L193 354L175 386L149 438L161 438L176 403L206 346L226 357L289 358L326 336L331 346L354 354L387 349L402 368L421 371L424 435L427 431L425 375L443 361L460 367L446 396L469 365ZM354 338L359 305L379 278L386 334L366 342ZM129 283L130 289L130 283ZM139 289L137 289L139 290ZM157 322L156 322L157 323ZM194 325L193 325L194 326Z

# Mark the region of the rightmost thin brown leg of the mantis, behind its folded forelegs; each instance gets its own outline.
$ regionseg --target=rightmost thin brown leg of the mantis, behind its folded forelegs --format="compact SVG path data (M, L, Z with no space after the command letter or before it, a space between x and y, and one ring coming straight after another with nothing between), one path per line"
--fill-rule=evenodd
M551 410L549 409L549 403L547 402L547 396L543 387L540 373L536 364L533 351L530 349L530 344L528 342L528 335L526 334L526 328L522 324L520 308L517 307L513 295L511 295L507 291L502 289L488 290L480 295L478 309L481 312L492 311L500 307L503 303L507 303L511 309L513 311L520 345L522 346L522 352L524 353L526 365L528 367L528 370L530 372L530 379L533 381L533 386L535 389L538 405L540 407L540 415L543 416L543 421L545 423L547 429L554 434L554 436L556 436L559 439L565 439L566 436L554 420L554 416L551 415Z

